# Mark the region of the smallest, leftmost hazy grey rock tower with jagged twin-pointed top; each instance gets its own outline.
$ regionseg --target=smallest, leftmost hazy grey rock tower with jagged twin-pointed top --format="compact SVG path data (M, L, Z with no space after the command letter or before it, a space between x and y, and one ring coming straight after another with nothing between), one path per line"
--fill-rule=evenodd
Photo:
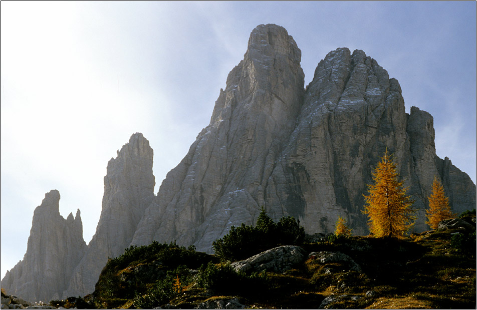
M52 190L35 209L27 252L2 280L2 288L27 300L58 299L86 250L80 211L66 219Z

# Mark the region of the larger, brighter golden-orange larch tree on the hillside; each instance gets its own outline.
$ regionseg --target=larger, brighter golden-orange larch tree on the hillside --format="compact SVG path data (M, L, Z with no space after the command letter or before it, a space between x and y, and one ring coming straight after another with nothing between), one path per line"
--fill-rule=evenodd
M414 225L414 200L406 195L407 187L398 181L396 164L387 153L381 158L373 172L374 184L368 185L369 195L364 195L363 213L369 216L368 224L376 237L403 238Z

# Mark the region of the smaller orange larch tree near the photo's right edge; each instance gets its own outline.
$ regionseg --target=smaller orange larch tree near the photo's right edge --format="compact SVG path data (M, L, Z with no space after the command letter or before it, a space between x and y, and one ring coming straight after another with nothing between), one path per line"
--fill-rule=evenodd
M444 188L436 177L434 177L434 182L432 182L432 194L427 198L429 199L429 209L426 210L428 219L426 224L430 228L436 229L440 221L456 216L450 210L449 198L445 196Z

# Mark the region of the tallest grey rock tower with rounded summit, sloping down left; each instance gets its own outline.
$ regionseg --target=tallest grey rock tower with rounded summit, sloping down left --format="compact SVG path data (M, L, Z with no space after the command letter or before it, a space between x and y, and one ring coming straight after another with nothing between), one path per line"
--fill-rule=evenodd
M261 25L227 77L210 124L171 170L133 244L177 240L210 249L231 225L252 222L301 108L301 52L287 31Z

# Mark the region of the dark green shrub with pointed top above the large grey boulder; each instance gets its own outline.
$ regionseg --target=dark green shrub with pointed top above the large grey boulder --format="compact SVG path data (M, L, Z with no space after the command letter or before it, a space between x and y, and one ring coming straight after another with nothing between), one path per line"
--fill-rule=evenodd
M305 229L294 217L282 217L275 223L262 208L256 226L242 224L232 226L212 247L215 255L223 261L248 258L281 244L300 245L305 238Z

